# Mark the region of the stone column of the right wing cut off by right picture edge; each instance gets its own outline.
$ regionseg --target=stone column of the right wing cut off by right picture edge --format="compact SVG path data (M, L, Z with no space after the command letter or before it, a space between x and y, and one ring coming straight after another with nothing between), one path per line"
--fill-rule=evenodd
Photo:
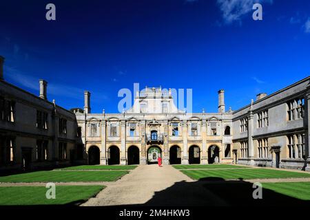
M306 143L304 143L305 147L305 156L307 158L307 166L305 170L310 171L310 88L307 88L307 94L304 97L304 124L307 127L306 135Z

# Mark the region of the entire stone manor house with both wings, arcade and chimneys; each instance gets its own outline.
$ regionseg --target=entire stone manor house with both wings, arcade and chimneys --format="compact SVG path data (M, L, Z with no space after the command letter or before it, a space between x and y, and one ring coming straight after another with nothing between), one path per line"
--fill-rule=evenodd
M310 170L310 77L247 106L226 111L218 91L217 113L186 113L171 89L145 87L123 113L63 109L3 78L0 56L0 170L70 164L248 164Z

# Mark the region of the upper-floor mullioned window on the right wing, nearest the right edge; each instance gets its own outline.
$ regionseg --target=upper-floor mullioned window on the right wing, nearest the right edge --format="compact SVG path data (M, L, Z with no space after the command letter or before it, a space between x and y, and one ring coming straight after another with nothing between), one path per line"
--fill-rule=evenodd
M288 120L298 120L304 117L304 98L296 98L287 102Z

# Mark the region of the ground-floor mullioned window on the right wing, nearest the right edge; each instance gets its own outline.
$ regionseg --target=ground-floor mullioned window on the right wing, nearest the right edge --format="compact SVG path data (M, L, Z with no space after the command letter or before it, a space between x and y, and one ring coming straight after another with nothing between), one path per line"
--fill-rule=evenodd
M305 135L304 133L298 133L293 135L287 135L289 158L301 159L305 156Z

